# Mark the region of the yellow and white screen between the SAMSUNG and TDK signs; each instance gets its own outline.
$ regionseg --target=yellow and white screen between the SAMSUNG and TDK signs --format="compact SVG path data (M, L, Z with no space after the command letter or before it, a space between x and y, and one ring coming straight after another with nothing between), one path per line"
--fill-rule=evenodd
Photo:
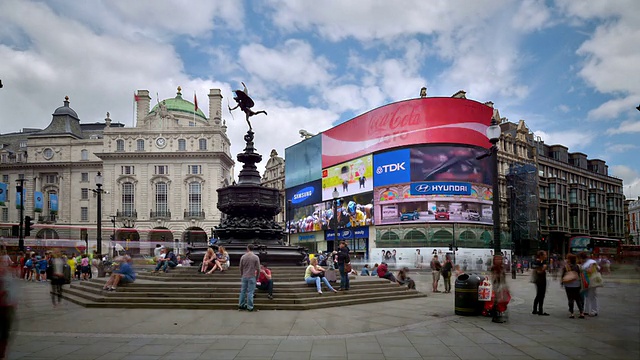
M322 200L373 190L373 157L366 155L322 170Z

